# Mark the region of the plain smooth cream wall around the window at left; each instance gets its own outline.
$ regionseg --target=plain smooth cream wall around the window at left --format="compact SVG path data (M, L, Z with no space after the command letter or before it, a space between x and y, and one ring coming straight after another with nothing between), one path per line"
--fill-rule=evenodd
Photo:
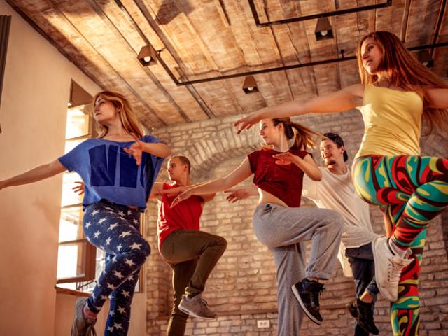
M64 153L71 79L90 94L100 89L4 0L0 13L13 17L0 106L6 179ZM61 186L59 175L0 190L0 335L69 335L76 297L55 290ZM136 300L141 311L144 301ZM145 321L140 316L133 325L144 330Z

